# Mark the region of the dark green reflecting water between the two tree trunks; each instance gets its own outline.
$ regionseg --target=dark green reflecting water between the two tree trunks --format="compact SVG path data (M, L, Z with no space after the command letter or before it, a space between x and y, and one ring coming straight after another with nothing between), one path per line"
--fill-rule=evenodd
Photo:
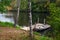
M28 13L20 13L20 16L19 16L19 25L20 26L24 26L24 25L28 25Z

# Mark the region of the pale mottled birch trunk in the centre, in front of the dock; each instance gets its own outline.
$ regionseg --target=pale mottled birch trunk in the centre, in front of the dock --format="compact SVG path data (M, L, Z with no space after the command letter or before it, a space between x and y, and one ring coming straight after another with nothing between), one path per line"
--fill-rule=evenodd
M29 9L30 40L33 40L31 0L28 0L28 9Z

